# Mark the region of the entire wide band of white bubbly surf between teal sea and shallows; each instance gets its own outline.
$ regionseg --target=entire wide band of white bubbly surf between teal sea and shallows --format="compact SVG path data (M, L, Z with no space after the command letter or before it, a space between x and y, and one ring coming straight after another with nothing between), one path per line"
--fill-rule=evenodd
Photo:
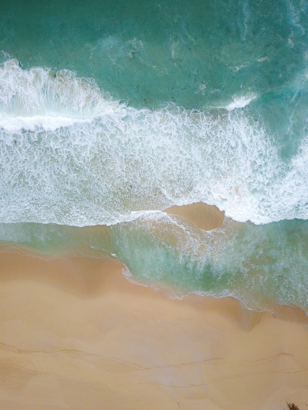
M3 222L111 225L200 201L257 224L308 215L307 144L285 165L249 106L136 109L7 57L0 115Z

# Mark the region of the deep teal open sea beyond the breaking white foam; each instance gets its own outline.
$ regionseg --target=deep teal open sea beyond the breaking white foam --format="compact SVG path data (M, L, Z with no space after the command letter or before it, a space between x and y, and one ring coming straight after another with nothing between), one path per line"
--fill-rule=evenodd
M225 105L306 67L307 5L266 0L2 1L0 48L94 77L134 106Z

